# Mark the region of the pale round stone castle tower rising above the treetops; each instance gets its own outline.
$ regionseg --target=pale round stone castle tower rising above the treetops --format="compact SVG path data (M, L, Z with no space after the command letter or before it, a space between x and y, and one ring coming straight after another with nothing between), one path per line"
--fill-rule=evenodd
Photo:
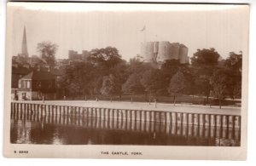
M182 43L145 42L141 44L144 62L162 64L166 60L179 60L181 64L189 63L188 48Z

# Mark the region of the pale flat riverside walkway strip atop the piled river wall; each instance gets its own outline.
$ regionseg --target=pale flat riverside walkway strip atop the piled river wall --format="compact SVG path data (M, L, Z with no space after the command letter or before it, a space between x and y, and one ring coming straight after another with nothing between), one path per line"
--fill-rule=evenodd
M130 110L143 110L143 111L160 111L160 112L185 112L185 113L203 113L203 114L216 114L216 115L241 115L241 107L222 106L199 106L184 104L164 104L157 103L156 107L154 102L150 105L148 102L126 102L126 101L94 101L94 100L22 100L15 101L21 103L34 103L34 104L49 104L53 106L83 106L83 107L96 107L96 108L112 108L112 109L130 109Z

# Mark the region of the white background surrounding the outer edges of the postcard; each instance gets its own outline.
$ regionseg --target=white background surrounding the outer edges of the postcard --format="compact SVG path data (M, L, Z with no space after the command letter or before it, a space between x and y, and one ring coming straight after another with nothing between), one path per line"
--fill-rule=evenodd
M137 1L136 1L137 2ZM152 2L152 1L150 1L150 2ZM161 1L161 2L173 2L173 1ZM195 2L197 2L197 3L211 3L212 1L179 1L179 2L189 2L189 3L195 3ZM3 1L1 1L1 9L0 9L0 12L1 12L1 23L3 23L4 22L4 24L1 24L1 33L0 33L0 37L1 37L1 39L0 39L0 42L1 42L1 44L0 44L0 46L2 47L1 49L0 49L0 51L1 51L1 59L0 59L0 66L1 66L1 69L2 70L0 70L1 71L1 76L2 76L2 78L4 77L4 25L5 25L5 3L6 3L6 0L3 0ZM255 100L255 99L253 99L253 92L255 92L255 85L256 85L256 83L255 83L255 78L253 77L253 75L254 75L254 71L256 70L255 69L255 57L253 56L254 54L255 54L255 29L256 29L256 27L255 27L255 16L256 16L256 14L255 14L255 2L253 2L253 0L247 0L247 1L242 1L242 0L240 0L240 1L214 1L214 3L250 3L251 4L251 24L250 24L250 44L249 44L249 99L248 99L248 152L247 152L247 162L236 162L236 163L234 163L234 162L232 162L232 163L223 163L223 162L213 162L213 163L210 163L210 162L196 162L196 161L189 161L189 163L187 163L186 161L183 161L183 162L181 162L181 161L172 161L172 163L173 164L181 164L181 163L183 163L183 164L196 164L196 165L205 165L205 164L207 164L207 165L216 165L216 164L220 164L220 163L222 163L221 165L226 165L226 164L232 164L232 165L241 165L241 164L245 164L245 165L253 165L253 163L256 161L256 146L255 146L255 127L256 127L256 121L254 120L255 119L255 110L253 110L253 108L255 108L255 106L253 106L253 100ZM254 44L253 44L254 43ZM1 90L0 90L0 94L2 94L2 95L0 95L0 100L1 100L1 108L2 108L2 110L3 110L3 79L1 79L1 82L0 82L0 84L2 85L1 87ZM3 119L3 112L1 112L1 119ZM2 123L2 126L1 126L1 130L2 130L2 134L3 134L3 123ZM3 139L3 137L1 137L1 139ZM1 141L1 146L2 146L2 149L3 149L3 140ZM2 160L3 159L3 160ZM3 156L1 157L1 161L3 161L3 163L6 163L6 165L9 165L9 163L11 163L11 164L15 164L15 165L20 165L20 160L14 160L14 159L6 159L6 158L3 158ZM43 162L44 161L44 162ZM70 165L70 164L73 164L73 161L74 160L65 160L65 161L63 161L62 163L66 163L65 165ZM159 160L158 160L159 161ZM21 162L21 163L24 163L25 161L23 160L23 162ZM26 161L26 162L28 162L28 161ZM55 164L60 164L60 163L58 163L58 161L52 161L52 160L50 160L49 161L49 159L44 159L44 160L40 160L40 162L38 161L38 159L30 159L29 160L29 162L28 163L30 163L30 164L39 164L39 165L45 165L45 164L47 164L47 162L50 162L50 163L55 163ZM76 162L78 162L77 160L76 160ZM96 163L99 163L99 164L106 164L105 163L106 161L104 160L104 161L102 161L102 160L90 160L90 163L92 164L96 164ZM141 161L142 162L142 161ZM139 162L140 164L142 164L141 162ZM156 161L157 162L157 161ZM159 161L160 162L160 161ZM2 163L2 162L1 162ZM83 163L83 161L79 161L79 163ZM111 162L112 164L113 164L113 162ZM135 161L133 161L133 160L130 160L130 161L122 161L122 160L119 160L119 162L117 162L117 165L119 165L119 164L122 164L122 165L131 165L131 164L134 164L135 163ZM145 164L160 164L160 163L155 163L154 161L143 161L143 163L145 163ZM166 163L166 162L164 162L164 161L161 161L161 163ZM30 165L29 164L29 165ZM255 164L255 163L254 163Z

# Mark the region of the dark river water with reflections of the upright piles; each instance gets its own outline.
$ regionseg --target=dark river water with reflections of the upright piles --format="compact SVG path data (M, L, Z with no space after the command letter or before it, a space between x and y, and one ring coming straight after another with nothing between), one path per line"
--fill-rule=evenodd
M11 117L10 141L48 145L240 146L240 129L22 113Z

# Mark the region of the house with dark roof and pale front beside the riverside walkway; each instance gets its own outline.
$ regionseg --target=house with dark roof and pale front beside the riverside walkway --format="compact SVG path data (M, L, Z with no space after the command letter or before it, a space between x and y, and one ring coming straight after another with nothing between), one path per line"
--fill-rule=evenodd
M32 71L19 79L18 100L55 99L55 76L51 72Z

